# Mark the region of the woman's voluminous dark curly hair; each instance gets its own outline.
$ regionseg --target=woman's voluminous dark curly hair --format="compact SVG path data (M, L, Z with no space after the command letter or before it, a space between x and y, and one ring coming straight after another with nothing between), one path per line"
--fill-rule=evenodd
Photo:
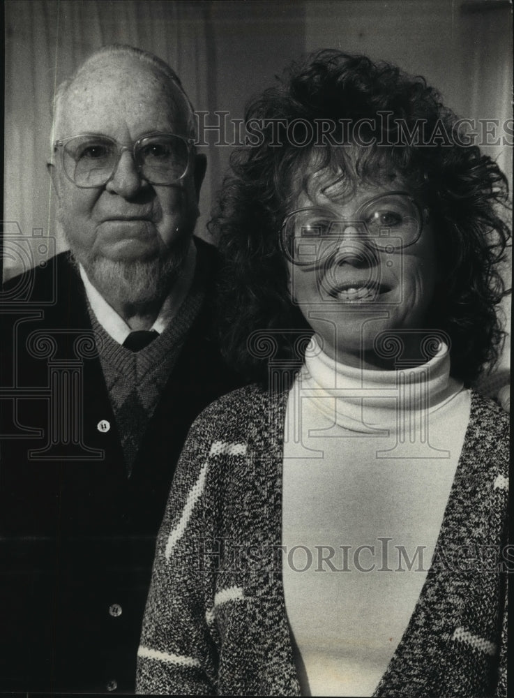
M298 194L298 173L306 173L300 188L312 174L314 151L318 169L342 170L354 184L378 181L384 170L398 173L423 197L440 265L427 326L450 336L453 376L467 385L494 364L504 339L496 308L505 295L499 266L509 237L508 184L491 158L463 142L455 130L458 117L423 77L364 56L320 50L292 64L277 87L250 103L245 118L250 144L232 154L233 174L223 183L210 225L224 258L222 346L234 366L264 381L269 352L260 351L258 341L250 346L249 338L268 338L273 359L294 366L298 336L310 330L289 297L279 231ZM298 138L296 144L280 139L279 121L297 119L303 124L298 138L307 122L312 133L319 133L322 121L335 131L324 144L311 140L300 147ZM357 121L359 138L371 144L353 148L358 156L352 157L345 145L331 147L345 138L345 124ZM423 136L416 135L420 124Z

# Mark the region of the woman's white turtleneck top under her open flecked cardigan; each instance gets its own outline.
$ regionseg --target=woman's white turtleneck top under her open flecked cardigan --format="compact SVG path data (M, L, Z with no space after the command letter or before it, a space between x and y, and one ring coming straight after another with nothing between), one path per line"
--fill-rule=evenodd
M370 696L421 593L469 420L450 357L372 371L310 352L289 394L283 578L303 695Z

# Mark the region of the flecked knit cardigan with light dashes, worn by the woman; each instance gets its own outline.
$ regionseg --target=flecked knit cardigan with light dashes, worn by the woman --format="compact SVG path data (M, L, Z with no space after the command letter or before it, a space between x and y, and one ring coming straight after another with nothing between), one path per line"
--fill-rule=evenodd
M138 692L300 695L280 555L286 405L250 386L192 426L158 536ZM432 565L373 695L506 695L507 468L508 415L472 393Z

